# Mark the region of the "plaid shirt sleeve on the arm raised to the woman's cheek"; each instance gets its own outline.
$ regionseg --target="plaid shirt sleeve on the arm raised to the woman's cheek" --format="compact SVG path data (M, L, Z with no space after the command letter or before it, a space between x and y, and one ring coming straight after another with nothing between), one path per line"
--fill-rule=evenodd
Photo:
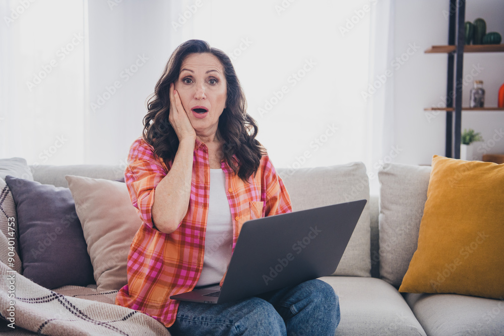
M137 214L151 228L152 205L155 188L168 173L166 165L158 161L150 145L142 138L132 144L128 154L128 166L124 170L124 182Z

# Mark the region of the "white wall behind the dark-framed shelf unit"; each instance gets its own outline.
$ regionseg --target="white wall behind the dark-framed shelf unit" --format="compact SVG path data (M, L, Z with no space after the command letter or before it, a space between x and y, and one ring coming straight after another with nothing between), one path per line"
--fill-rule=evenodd
M401 56L408 45L416 44L419 50L394 71L394 131L395 143L402 152L395 162L430 164L432 155L445 155L446 113L437 116L423 108L437 105L446 95L447 54L425 54L431 45L448 42L449 1L397 0L395 20L395 54ZM468 0L466 21L483 18L487 32L496 31L504 36L504 2L502 0ZM411 49L410 49L411 51ZM406 57L404 57L406 58ZM482 80L486 90L485 106L497 106L497 92L504 83L504 53L465 53L464 76L470 75L474 66L483 68L474 78ZM469 78L471 79L471 78ZM463 104L469 104L472 80L463 89ZM473 128L481 132L488 145L488 153L504 153L504 139L491 141L495 130L504 128L504 112L462 112L462 129Z

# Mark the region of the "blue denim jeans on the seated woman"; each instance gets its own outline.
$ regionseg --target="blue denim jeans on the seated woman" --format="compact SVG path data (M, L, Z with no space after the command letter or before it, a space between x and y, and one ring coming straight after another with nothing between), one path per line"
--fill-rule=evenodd
M340 322L333 288L314 279L239 301L210 304L181 301L176 335L330 335Z

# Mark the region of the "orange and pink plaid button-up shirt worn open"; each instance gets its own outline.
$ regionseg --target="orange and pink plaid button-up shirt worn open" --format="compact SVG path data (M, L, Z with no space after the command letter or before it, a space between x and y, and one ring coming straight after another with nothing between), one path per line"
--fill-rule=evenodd
M130 148L124 179L143 223L128 255L128 284L115 298L115 304L142 311L167 327L175 322L179 304L170 296L193 290L203 268L210 188L208 148L196 140L188 211L179 227L165 234L155 228L151 208L156 186L172 163L165 164L142 137ZM221 167L226 175L226 195L233 218L234 251L244 222L288 213L292 206L287 189L267 155L261 158L250 183L234 174L226 161L222 161Z

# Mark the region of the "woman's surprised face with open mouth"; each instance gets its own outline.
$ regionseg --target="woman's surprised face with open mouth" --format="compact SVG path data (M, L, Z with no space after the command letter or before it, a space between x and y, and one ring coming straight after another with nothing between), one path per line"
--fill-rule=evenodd
M226 77L220 60L211 53L187 55L180 66L175 90L196 135L215 135L227 99Z

